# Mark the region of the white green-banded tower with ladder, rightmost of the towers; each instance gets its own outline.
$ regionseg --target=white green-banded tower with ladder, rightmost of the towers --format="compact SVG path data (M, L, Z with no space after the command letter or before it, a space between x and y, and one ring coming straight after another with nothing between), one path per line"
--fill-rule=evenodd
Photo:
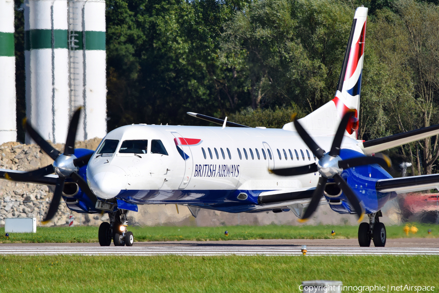
M105 1L69 0L70 114L84 106L77 139L104 137L106 124Z

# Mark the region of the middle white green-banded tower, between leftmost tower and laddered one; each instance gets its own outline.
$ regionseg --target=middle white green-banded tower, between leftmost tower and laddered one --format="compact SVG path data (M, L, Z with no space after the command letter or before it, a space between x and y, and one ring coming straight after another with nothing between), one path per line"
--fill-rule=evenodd
M46 140L65 142L69 121L67 0L25 0L26 116ZM30 143L26 136L26 143Z

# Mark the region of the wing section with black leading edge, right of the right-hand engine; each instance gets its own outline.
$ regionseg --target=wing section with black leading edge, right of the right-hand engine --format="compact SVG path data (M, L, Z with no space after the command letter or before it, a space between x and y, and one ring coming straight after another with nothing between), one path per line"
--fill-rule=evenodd
M395 191L396 193L439 189L439 174L380 179L377 181L376 188L377 191Z

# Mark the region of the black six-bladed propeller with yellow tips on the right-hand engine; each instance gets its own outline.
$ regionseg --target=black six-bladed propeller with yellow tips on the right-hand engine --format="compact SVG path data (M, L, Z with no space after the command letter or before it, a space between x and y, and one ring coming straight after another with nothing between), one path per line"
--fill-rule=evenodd
M292 115L294 126L296 127L296 130L299 133L301 139L309 147L313 154L319 159L319 161L317 162L317 164L313 163L300 167L279 168L270 171L280 176L297 176L317 171L319 171L319 173L321 174L321 177L319 178L319 183L312 195L311 202L306 208L302 218L299 219L300 222L308 220L309 217L311 217L311 215L316 211L317 207L319 206L320 199L323 196L323 191L325 190L328 179L334 179L334 182L343 191L344 195L350 202L352 209L357 213L360 222L364 215L364 209L359 202L357 196L355 195L355 192L341 177L341 172L347 168L371 164L379 164L382 167L391 166L390 158L384 154L380 154L379 156L375 157L361 156L346 160L342 160L339 157L344 131L354 113L354 110L350 110L343 115L329 152L325 152L322 148L320 148L319 145L306 132L306 130L300 125L299 121L297 120L296 114Z

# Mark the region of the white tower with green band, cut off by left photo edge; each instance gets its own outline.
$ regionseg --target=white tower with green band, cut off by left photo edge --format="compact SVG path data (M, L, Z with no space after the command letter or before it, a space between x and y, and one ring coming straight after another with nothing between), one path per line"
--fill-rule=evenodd
M0 1L0 145L17 140L14 0Z

